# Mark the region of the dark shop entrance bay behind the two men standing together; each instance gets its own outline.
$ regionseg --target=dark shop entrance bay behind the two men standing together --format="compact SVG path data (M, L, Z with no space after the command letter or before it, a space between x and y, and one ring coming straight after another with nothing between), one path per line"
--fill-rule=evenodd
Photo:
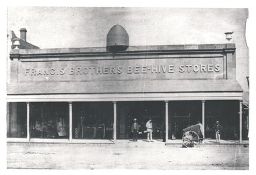
M138 139L147 139L146 123L151 118L153 139L163 139L164 127L163 101L120 102L117 107L117 139L132 139L133 119L139 124Z

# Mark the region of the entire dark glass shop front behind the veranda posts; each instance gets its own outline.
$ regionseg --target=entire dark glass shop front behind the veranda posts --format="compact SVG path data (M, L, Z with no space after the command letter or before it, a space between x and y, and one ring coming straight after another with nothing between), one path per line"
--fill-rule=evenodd
M68 102L31 102L29 129L27 104L7 103L7 138L69 139ZM205 101L205 138L214 139L214 125L220 121L222 139L238 139L239 101ZM181 139L183 129L202 123L201 101L170 101L168 139ZM73 102L73 139L113 139L113 102ZM153 139L165 137L165 102L117 102L117 139L132 139L133 119L139 124L138 139L146 139L146 122L152 119ZM246 121L245 121L246 122ZM248 121L247 121L248 122ZM247 129L247 125L243 125Z

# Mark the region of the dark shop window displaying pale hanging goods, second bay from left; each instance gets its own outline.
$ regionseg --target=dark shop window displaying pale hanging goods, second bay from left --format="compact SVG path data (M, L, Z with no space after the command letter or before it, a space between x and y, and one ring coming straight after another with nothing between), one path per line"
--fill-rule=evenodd
M69 138L68 103L30 103L31 138Z

